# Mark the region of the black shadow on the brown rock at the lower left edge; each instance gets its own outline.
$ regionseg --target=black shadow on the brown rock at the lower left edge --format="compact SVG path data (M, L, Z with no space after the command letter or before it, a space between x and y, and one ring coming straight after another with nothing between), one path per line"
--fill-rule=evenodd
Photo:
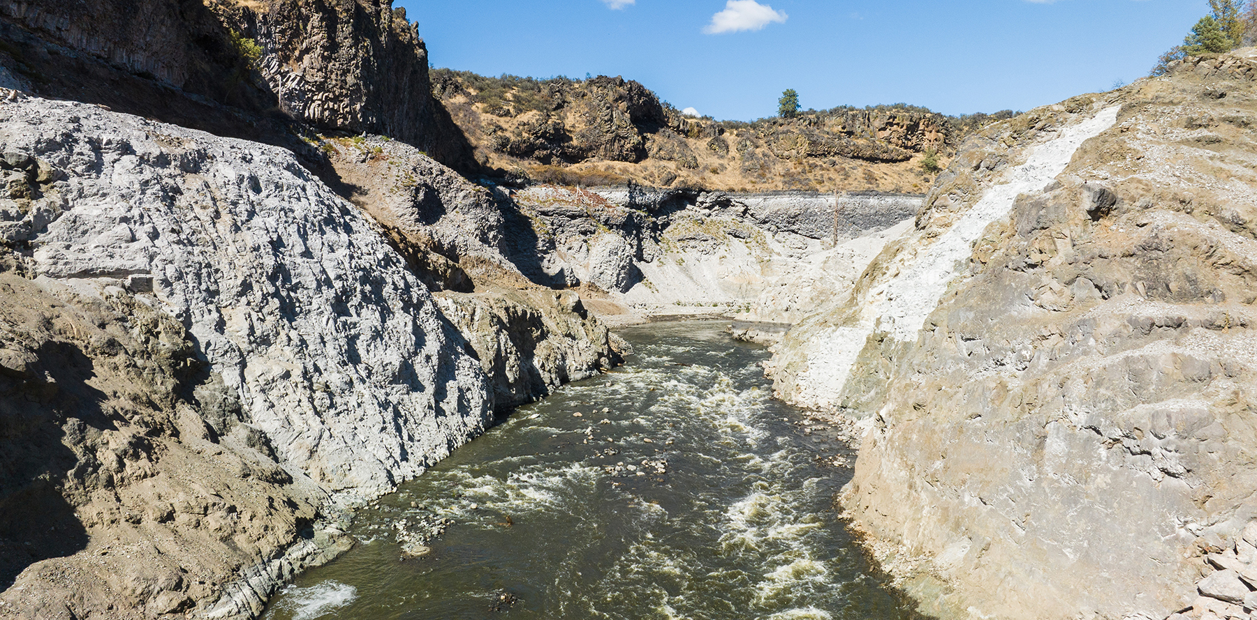
M31 564L87 547L63 488L88 468L64 439L68 429L91 436L114 428L102 410L107 395L87 384L92 360L79 348L44 343L35 356L0 375L0 590Z

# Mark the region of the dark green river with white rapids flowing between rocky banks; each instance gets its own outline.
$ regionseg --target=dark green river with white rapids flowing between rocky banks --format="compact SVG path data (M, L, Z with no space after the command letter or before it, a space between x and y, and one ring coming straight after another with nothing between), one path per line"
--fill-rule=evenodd
M833 510L854 456L725 323L520 407L358 513L269 620L909 619ZM579 413L579 415L577 415Z

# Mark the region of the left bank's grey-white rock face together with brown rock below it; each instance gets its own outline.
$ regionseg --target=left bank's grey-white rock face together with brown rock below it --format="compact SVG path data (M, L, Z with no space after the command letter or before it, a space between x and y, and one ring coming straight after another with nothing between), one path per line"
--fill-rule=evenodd
M29 476L6 478L4 501L33 489L60 497L65 526L80 532L52 552L64 557L16 577L3 595L9 609L142 617L170 599L161 612L255 614L278 580L321 556L319 545L284 550L322 536L310 527L334 516L329 493L352 502L388 491L490 419L480 364L422 281L380 225L289 152L16 93L0 110L6 269L65 305L40 319L49 336L5 346L6 373L36 398L52 394L49 413L29 424L55 449L21 466ZM57 326L58 314L89 310L101 336ZM79 373L74 399L55 400L40 385L64 383L55 364L68 355L82 369L65 370ZM197 382L219 388L202 397ZM109 389L119 404L106 400ZM28 417L9 413L19 424L6 437L20 442ZM196 464L207 458L221 464ZM205 553L185 559L178 545L201 538ZM117 567L98 548L117 541L134 548L111 577ZM25 542L39 538L5 545ZM57 594L67 591L79 594Z

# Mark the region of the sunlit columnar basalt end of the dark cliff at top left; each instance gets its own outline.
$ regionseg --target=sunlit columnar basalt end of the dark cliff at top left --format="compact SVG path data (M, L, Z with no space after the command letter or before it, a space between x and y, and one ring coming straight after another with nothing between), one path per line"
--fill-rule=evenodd
M450 166L474 166L436 102L419 25L391 0L216 0L258 46L254 67L293 119L323 131L390 136Z

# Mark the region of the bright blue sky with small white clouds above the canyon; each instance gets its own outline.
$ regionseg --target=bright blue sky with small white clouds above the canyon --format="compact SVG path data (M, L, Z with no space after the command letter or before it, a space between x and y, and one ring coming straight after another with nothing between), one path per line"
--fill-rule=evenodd
M393 5L419 23L432 67L623 75L678 108L742 120L776 114L787 88L816 109L1031 109L1145 75L1208 13L1205 0L727 1Z

